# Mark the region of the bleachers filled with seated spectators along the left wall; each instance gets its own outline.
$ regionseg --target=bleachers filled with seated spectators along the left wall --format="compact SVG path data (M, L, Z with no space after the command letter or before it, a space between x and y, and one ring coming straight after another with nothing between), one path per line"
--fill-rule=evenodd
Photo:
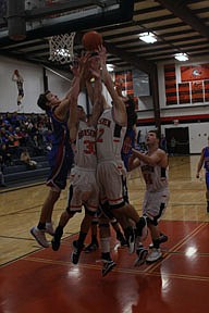
M7 189L46 181L50 145L51 129L47 115L0 113L0 165ZM34 167L21 161L24 149L36 161ZM4 184L0 186L1 191L5 189Z

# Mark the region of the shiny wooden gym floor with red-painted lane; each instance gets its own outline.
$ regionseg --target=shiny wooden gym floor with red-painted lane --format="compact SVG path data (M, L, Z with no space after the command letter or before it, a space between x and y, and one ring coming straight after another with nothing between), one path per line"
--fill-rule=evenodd
M170 158L171 199L161 222L169 236L163 258L134 266L112 236L118 266L104 278L100 251L70 260L82 214L70 221L58 252L41 249L29 235L48 192L44 185L0 193L0 313L174 313L207 312L209 308L209 213L205 180L195 178L199 156ZM144 183L138 171L128 180L131 202L140 213ZM57 225L66 191L57 203ZM50 236L49 236L50 240ZM88 240L89 241L89 238ZM149 245L150 238L147 239Z

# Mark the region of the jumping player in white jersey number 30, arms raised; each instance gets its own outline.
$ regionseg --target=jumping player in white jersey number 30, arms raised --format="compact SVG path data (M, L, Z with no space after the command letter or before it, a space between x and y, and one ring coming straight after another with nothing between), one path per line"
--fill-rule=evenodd
M96 75L95 72L94 74ZM93 73L90 77L93 77ZM89 87L89 80L86 82L86 85ZM70 107L69 128L70 139L74 150L75 166L71 171L67 206L60 217L51 243L52 249L57 251L60 247L64 226L76 212L82 211L82 206L84 205L85 217L81 225L79 236L77 240L73 241L74 250L72 253L72 262L74 264L77 264L78 262L91 220L98 209L99 189L96 183L97 158L95 126L97 125L98 117L101 113L100 104L102 104L102 102L100 101L100 88L101 82L98 75L98 77L95 76L93 115L89 118L87 118L83 107L77 107L73 103Z

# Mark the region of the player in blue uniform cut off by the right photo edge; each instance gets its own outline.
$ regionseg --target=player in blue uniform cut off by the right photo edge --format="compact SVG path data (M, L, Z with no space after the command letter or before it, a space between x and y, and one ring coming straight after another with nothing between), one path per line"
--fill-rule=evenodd
M209 137L208 137L208 146L201 150L201 155L197 165L197 174L196 177L199 178L199 173L201 167L206 170L206 200L207 200L207 212L209 213Z

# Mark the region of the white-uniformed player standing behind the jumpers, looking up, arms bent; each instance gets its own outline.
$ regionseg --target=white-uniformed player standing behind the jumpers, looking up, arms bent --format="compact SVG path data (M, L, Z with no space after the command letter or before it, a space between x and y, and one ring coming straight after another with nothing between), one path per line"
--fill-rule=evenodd
M162 217L169 201L168 187L168 155L159 149L159 135L157 130L147 134L147 153L132 149L133 155L130 159L130 170L140 166L145 183L146 192L143 203L143 216L151 233L153 248L147 256L148 251L142 242L137 248L138 259L136 265L147 262L156 262L162 255L160 243L164 242L160 234L158 223Z

